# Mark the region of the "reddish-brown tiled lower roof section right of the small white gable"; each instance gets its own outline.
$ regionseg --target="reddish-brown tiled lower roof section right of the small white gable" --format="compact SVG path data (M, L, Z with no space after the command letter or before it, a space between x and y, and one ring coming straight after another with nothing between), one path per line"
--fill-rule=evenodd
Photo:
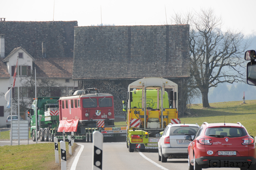
M72 78L73 58L40 58L33 68L37 78Z

